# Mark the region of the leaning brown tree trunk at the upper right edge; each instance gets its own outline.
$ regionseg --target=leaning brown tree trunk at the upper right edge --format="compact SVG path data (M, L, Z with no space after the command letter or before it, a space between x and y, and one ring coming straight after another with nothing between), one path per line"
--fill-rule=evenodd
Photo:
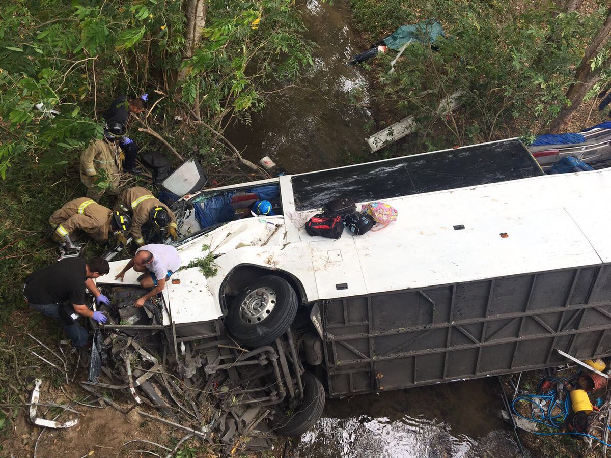
M600 79L601 71L603 68L609 67L611 65L611 57L607 59L600 67L592 70L591 61L602 51L605 45L611 39L611 9L607 12L607 20L602 27L599 29L598 33L588 46L587 51L585 51L584 59L582 59L581 64L577 67L575 71L575 82L569 86L569 89L566 91L566 98L568 99L567 103L560 109L557 117L552 121L549 125L549 133L555 134L560 131L562 126L564 126L571 117L573 113L579 108L582 101L584 101L585 95L588 93L588 90Z

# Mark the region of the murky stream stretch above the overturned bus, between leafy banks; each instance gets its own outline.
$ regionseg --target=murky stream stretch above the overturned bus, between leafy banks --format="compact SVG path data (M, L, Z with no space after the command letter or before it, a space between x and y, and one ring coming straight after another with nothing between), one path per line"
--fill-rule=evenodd
M290 173L364 160L369 151L365 137L370 135L365 126L373 120L367 81L347 64L346 56L360 51L345 2L308 0L301 9L306 38L318 46L313 67L295 86L271 94L250 125L238 122L225 131L245 158L256 163L269 156Z

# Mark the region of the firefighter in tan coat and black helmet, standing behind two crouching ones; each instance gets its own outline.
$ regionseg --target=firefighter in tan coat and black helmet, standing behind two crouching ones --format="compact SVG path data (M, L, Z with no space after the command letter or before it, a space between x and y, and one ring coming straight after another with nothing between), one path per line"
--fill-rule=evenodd
M109 123L104 126L104 138L90 142L89 147L81 153L81 181L87 187L87 197L95 202L100 200L104 192L109 195L119 194L122 166L118 140L123 136L125 136L124 125ZM95 184L103 174L106 175L109 183L108 189Z

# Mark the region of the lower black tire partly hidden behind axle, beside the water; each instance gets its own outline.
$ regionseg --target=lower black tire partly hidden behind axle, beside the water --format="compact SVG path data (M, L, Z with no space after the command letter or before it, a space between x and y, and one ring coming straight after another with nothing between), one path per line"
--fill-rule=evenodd
M293 415L276 410L271 427L278 434L296 437L309 431L323 415L324 388L323 384L313 374L306 372L304 377L304 396Z

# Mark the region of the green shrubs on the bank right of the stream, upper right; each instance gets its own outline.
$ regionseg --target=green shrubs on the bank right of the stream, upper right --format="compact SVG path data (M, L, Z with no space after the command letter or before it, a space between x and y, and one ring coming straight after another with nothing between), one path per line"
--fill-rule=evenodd
M444 26L446 39L432 49L408 46L391 75L395 51L371 61L380 80L376 96L400 115L415 114L431 149L448 146L441 131L452 136L451 144L468 144L553 118L607 12L601 7L590 15L558 14L548 0L351 0L351 5L371 42L427 18ZM462 108L452 115L440 112L439 102L457 90L463 91Z

